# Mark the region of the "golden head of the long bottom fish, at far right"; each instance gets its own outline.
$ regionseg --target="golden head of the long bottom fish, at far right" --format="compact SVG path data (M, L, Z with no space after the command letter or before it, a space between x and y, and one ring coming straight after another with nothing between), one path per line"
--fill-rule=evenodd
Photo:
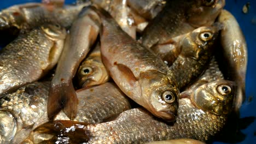
M232 111L234 95L235 82L216 80L197 87L191 101L199 109L224 116Z

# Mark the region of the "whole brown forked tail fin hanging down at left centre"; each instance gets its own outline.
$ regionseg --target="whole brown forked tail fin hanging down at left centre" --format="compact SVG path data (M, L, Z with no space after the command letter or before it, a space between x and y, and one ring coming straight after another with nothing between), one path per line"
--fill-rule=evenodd
M48 97L48 118L54 117L63 109L69 119L77 116L78 99L72 82L61 83L50 88Z

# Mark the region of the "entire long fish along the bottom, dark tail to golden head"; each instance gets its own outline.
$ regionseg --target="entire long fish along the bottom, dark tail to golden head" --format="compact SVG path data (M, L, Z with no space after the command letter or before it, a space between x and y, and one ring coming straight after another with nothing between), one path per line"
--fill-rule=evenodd
M190 92L189 95L187 91L181 93L178 116L173 123L161 121L139 107L124 111L106 123L87 125L73 121L53 121L39 125L34 133L59 136L52 140L56 142L61 142L60 137L63 136L70 143L78 140L77 136L83 139L80 143L145 143L173 139L207 142L222 130L232 111L235 83L216 80L190 89Z

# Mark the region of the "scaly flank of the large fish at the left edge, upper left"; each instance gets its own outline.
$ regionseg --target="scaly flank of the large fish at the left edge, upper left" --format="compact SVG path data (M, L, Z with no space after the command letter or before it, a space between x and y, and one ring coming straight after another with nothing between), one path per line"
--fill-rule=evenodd
M0 53L0 95L38 80L49 65L53 46L54 41L36 28L4 47Z

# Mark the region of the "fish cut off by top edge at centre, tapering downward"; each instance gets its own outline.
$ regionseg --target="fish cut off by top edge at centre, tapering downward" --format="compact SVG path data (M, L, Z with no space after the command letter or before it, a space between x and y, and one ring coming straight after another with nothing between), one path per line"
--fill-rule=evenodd
M166 1L164 0L127 0L127 4L138 15L141 15L147 20L152 20L164 8Z

